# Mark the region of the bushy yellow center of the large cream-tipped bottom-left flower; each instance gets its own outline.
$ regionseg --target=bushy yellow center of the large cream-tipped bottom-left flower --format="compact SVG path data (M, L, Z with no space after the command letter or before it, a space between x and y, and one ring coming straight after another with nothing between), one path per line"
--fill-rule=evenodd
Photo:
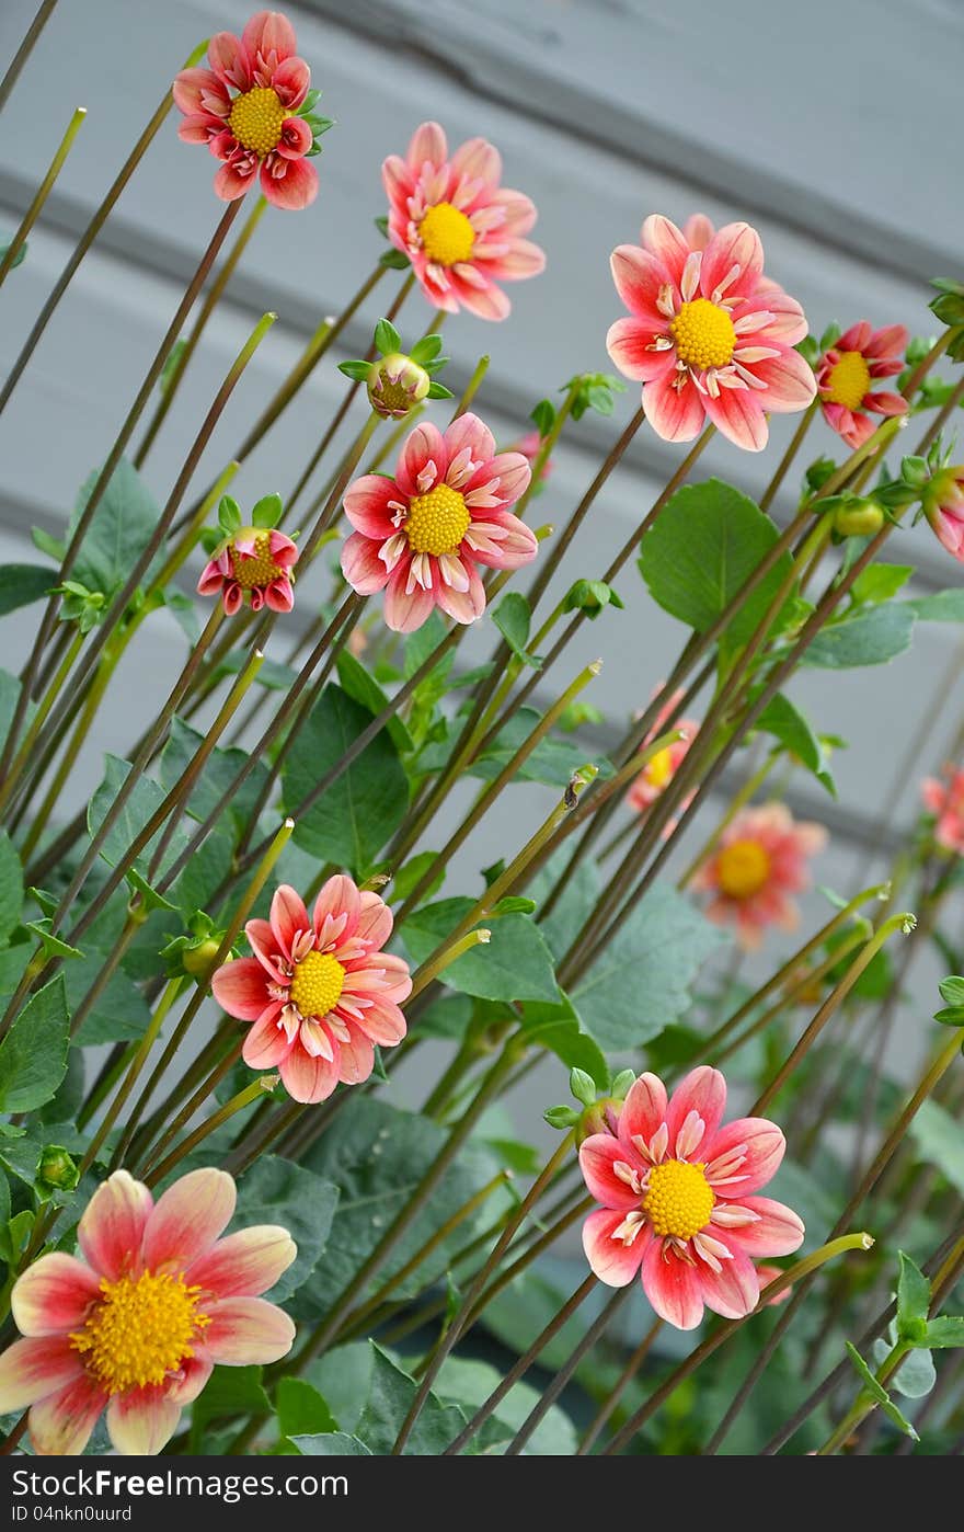
M184 1273L144 1272L101 1281L98 1302L70 1345L109 1394L162 1383L195 1354L198 1333L210 1325L198 1313L199 1287L185 1287Z

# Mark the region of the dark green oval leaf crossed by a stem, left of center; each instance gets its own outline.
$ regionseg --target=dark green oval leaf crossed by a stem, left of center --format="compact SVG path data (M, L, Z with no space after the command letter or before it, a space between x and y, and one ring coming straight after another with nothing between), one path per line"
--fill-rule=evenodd
M313 809L302 813L299 804L345 758L369 723L368 708L352 702L340 686L326 686L282 772L285 807L296 820L296 844L322 861L351 867L362 878L408 810L408 777L388 729L375 734Z

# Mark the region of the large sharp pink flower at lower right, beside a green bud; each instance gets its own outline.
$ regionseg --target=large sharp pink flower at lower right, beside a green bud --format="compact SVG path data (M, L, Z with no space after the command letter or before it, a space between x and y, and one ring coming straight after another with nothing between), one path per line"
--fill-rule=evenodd
M602 1204L582 1226L589 1264L608 1287L639 1272L650 1304L677 1330L694 1330L703 1307L725 1319L751 1313L754 1262L803 1242L800 1218L756 1195L783 1160L783 1134L763 1117L720 1128L725 1106L719 1069L693 1069L670 1098L657 1075L641 1074L616 1135L595 1134L579 1149Z

